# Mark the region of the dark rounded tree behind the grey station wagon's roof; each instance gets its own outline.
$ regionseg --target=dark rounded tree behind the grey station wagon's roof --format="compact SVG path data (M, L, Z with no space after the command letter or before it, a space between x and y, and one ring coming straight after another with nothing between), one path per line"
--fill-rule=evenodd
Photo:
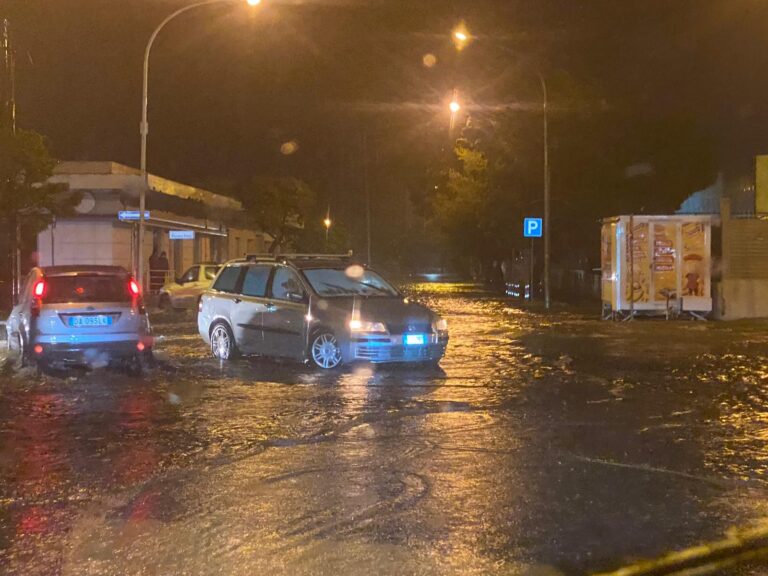
M237 196L250 223L272 236L270 252L296 244L317 203L312 188L293 177L255 178Z

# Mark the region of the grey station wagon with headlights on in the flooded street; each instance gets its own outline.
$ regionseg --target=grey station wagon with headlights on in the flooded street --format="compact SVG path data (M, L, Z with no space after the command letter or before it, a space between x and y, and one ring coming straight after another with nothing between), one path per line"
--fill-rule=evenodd
M437 363L445 320L348 257L249 257L228 262L200 299L198 329L212 354L342 363Z

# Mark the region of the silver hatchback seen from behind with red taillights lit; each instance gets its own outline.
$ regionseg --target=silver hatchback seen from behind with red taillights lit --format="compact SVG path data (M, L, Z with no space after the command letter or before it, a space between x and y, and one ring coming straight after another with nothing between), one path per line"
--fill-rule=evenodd
M6 323L22 363L94 365L151 358L141 290L119 266L33 268Z

